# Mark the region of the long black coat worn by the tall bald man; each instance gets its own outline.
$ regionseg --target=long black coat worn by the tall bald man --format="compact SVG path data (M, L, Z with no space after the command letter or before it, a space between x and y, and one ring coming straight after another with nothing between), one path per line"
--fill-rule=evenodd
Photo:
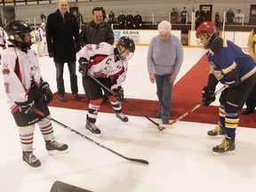
M76 52L81 49L75 15L66 12L64 20L57 10L48 16L46 23L48 52L53 52L53 60L58 63L76 61Z

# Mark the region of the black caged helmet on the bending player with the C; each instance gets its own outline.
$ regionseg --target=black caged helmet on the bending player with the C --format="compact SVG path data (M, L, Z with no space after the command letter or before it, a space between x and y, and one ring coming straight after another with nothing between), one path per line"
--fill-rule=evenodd
M132 58L133 52L135 52L135 44L134 44L132 38L128 37L128 36L121 36L117 41L116 48L119 52L119 57L121 60L130 60ZM121 54L126 49L129 50L131 52L131 54L124 58L121 56Z

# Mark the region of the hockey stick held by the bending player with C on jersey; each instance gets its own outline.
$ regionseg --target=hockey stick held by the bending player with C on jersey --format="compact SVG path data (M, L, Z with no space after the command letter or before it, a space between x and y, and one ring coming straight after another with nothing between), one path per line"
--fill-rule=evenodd
M104 88L105 90L107 90L108 92L112 93L115 95L115 92L113 92L112 90L110 90L107 86L105 86L104 84L102 84L97 78L95 78L94 76L92 76L91 74L87 73L86 76L90 76L97 84L100 84L100 86L102 88ZM131 107L132 109L136 110L138 113L140 113L140 115L146 117L151 123L156 124L158 130L163 130L164 124L158 124L156 123L154 120L152 120L151 118L149 118L147 115L145 115L142 111L140 111L138 108L135 108L132 103L128 102L127 100L122 100L124 103L126 103L129 107ZM169 126L169 124L166 124L166 126Z

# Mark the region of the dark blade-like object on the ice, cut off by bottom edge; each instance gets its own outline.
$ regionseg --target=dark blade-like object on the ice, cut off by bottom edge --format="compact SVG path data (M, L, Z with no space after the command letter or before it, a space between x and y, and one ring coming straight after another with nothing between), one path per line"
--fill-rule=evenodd
M78 188L60 180L54 181L50 192L92 192L84 188Z

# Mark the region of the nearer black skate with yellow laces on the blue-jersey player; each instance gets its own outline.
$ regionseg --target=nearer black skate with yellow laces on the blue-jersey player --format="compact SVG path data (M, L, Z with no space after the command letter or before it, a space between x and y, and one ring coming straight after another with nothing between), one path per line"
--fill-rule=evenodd
M235 140L231 140L226 137L222 140L221 144L212 148L213 154L234 154L235 152Z

